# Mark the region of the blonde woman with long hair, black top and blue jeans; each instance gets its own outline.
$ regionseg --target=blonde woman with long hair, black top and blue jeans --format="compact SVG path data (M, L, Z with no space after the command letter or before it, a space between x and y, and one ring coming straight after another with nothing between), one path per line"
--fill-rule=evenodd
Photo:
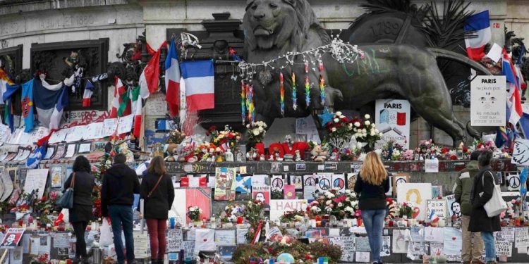
M387 213L386 193L389 191L387 176L382 160L377 153L371 151L365 156L355 184L355 192L360 194L358 207L362 211L362 221L375 264L382 264L382 229Z

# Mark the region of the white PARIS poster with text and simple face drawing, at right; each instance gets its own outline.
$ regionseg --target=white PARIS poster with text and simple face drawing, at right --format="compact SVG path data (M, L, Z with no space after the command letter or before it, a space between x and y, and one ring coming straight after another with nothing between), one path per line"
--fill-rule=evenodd
M496 127L506 122L505 76L476 76L470 82L470 125Z

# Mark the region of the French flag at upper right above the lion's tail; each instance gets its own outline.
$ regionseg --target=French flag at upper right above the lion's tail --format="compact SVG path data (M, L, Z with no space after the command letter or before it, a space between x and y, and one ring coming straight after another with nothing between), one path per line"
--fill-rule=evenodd
M468 32L465 38L468 57L478 61L485 56L485 44L490 42L489 11L470 15L463 30Z

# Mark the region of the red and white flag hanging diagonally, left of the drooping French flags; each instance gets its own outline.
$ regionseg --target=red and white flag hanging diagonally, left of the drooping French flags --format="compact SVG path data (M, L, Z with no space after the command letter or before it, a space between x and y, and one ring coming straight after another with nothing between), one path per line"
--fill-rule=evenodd
M141 87L140 95L143 99L146 99L150 94L154 94L158 91L160 76L160 51L162 51L163 46L166 46L166 42L162 43L140 75L140 80L138 82Z

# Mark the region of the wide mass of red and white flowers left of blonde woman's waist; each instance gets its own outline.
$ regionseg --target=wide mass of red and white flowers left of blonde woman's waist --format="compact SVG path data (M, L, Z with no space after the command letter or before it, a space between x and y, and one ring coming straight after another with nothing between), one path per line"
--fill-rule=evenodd
M336 220L355 218L358 199L353 191L347 189L342 194L338 189L331 189L315 198L316 200L307 207L308 215L334 215Z

